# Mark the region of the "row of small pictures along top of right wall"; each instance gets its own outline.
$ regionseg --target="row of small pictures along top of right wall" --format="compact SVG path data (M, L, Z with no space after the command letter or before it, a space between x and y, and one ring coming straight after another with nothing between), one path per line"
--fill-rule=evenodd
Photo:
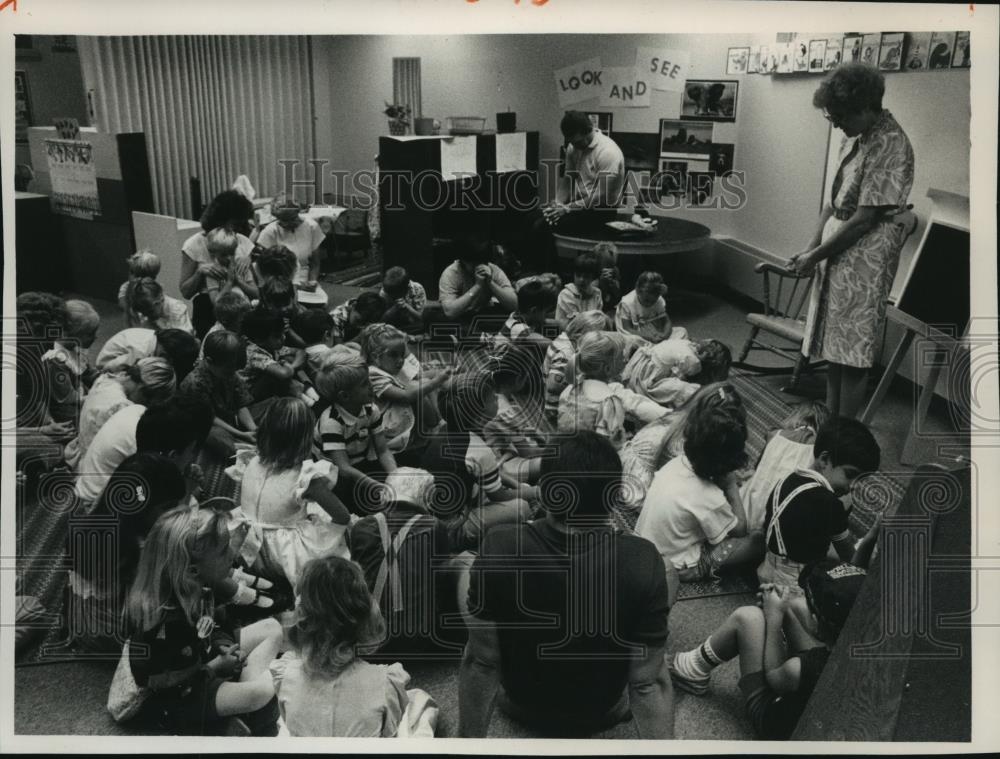
M841 63L881 71L924 71L972 65L968 32L876 32L753 47L731 47L726 75L823 73Z

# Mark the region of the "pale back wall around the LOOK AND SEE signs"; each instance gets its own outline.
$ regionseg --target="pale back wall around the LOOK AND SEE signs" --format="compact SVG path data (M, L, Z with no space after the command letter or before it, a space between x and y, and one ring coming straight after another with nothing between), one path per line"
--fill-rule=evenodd
M644 45L686 49L690 77L740 82L736 123L717 124L716 139L736 145L734 166L746 174L747 203L732 211L673 213L707 224L716 235L787 257L814 231L831 129L812 105L818 76L726 76L729 47L773 43L773 34L314 37L317 153L337 169L371 168L377 138L386 132L381 106L392 96L394 56L421 59L425 116L480 115L492 128L495 114L510 108L519 129L540 132L544 159L558 156L561 143L555 69L591 56L605 65L630 65L636 47ZM939 129L929 115L932 106L949 120L968 113L967 70L906 72L886 80L886 105L900 113L911 135L926 134L929 141ZM617 109L614 129L655 132L659 119L677 116L680 93L654 91L651 100L650 108ZM593 102L574 107L599 110ZM961 122L953 131L967 134ZM918 184L948 177L943 189L967 187L968 153L953 154L950 148L920 151Z

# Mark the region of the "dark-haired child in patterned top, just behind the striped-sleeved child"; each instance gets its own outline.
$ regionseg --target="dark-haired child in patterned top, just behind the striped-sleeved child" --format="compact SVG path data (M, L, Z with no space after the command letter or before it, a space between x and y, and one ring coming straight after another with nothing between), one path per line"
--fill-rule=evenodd
M522 396L527 396L537 410L537 401L541 400L539 379L532 357L516 346L493 372L497 413L483 427L483 439L496 454L500 479L508 487L522 482L534 485L541 475L545 439L538 431L539 415L520 402Z

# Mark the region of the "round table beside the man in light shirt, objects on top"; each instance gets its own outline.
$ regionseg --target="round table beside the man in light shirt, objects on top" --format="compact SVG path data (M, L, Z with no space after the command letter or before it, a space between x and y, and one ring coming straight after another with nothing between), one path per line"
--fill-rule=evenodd
M619 216L618 221L628 221ZM640 272L661 271L667 257L674 253L699 250L708 242L712 230L704 224L663 216L656 218L656 231L619 232L609 226L587 232L560 234L553 232L556 252L560 258L576 258L585 250L593 250L599 242L614 243L618 249L618 269L621 272L622 293L635 285ZM662 271L661 271L662 273Z

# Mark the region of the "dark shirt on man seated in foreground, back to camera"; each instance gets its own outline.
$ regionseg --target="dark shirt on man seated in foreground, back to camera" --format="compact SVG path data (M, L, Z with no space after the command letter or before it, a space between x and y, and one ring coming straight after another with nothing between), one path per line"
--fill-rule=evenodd
M501 525L473 564L469 609L496 623L511 701L585 724L619 700L643 646L665 644L666 572L655 546L634 535Z

